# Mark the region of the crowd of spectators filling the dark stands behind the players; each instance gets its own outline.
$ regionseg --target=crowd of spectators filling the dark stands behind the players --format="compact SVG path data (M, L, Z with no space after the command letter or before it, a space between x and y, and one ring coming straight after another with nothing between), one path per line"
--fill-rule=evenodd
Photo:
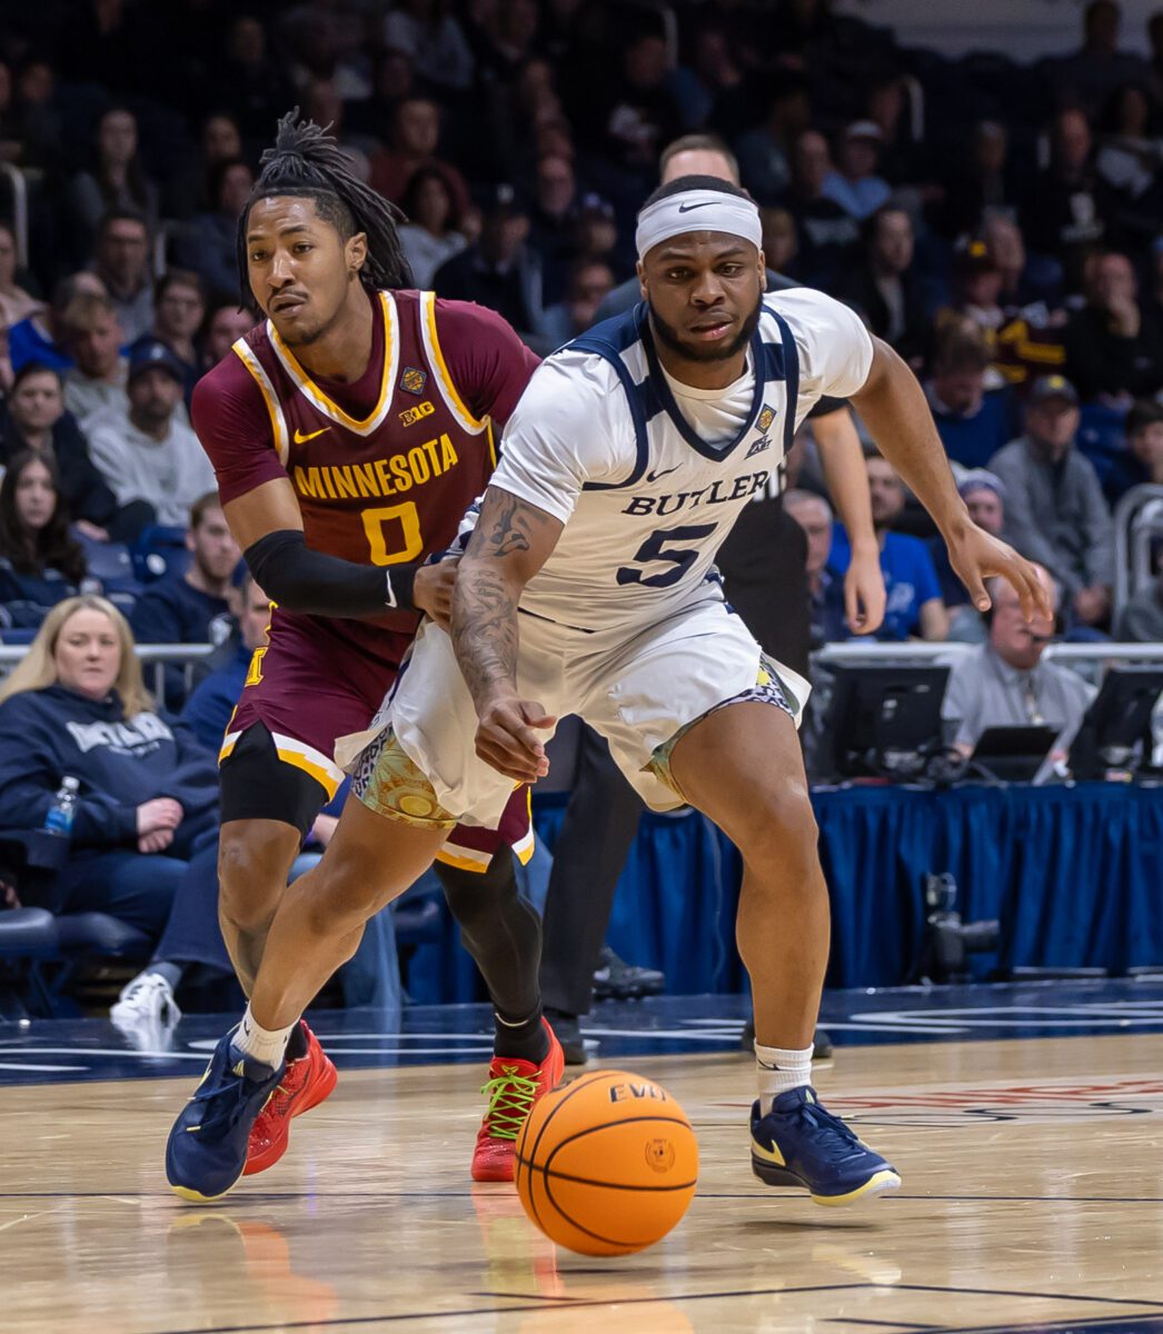
M143 872L131 906L156 934L179 880L204 876L199 794L264 600L233 587L239 551L187 407L251 327L235 223L296 104L400 207L417 285L492 307L539 352L639 299L634 219L660 163L676 149L738 163L770 281L850 303L908 362L972 516L1040 563L1059 604L1056 626L1031 628L999 586L983 619L870 448L878 638L979 646L951 690L963 723L998 703L991 683L1026 706L1042 692L1047 716L1083 707L1040 662L1050 635L1163 638L1163 572L1112 603L1112 506L1163 486L1163 9L1147 57L1123 49L1120 23L1115 0L1092 0L1071 56L1020 67L908 49L830 0L9 7L0 161L27 185L28 253L0 177L0 639L43 630L39 675L9 682L4 710L21 727L52 715L59 739L72 710L149 758L132 780L109 768L91 784L116 810L92 836L80 812L89 879L108 867L136 894L129 860L164 852L171 879ZM847 638L848 542L811 423L787 472L814 638ZM168 552L153 583L151 544ZM111 578L115 548L140 558L131 578ZM201 740L141 694L120 612L67 603L101 591L139 642L220 648L187 706ZM61 635L65 604L96 666ZM156 707L181 708L188 684L168 671ZM40 804L63 763L44 744ZM23 747L11 758L0 787ZM173 795L163 771L187 760L201 787Z

